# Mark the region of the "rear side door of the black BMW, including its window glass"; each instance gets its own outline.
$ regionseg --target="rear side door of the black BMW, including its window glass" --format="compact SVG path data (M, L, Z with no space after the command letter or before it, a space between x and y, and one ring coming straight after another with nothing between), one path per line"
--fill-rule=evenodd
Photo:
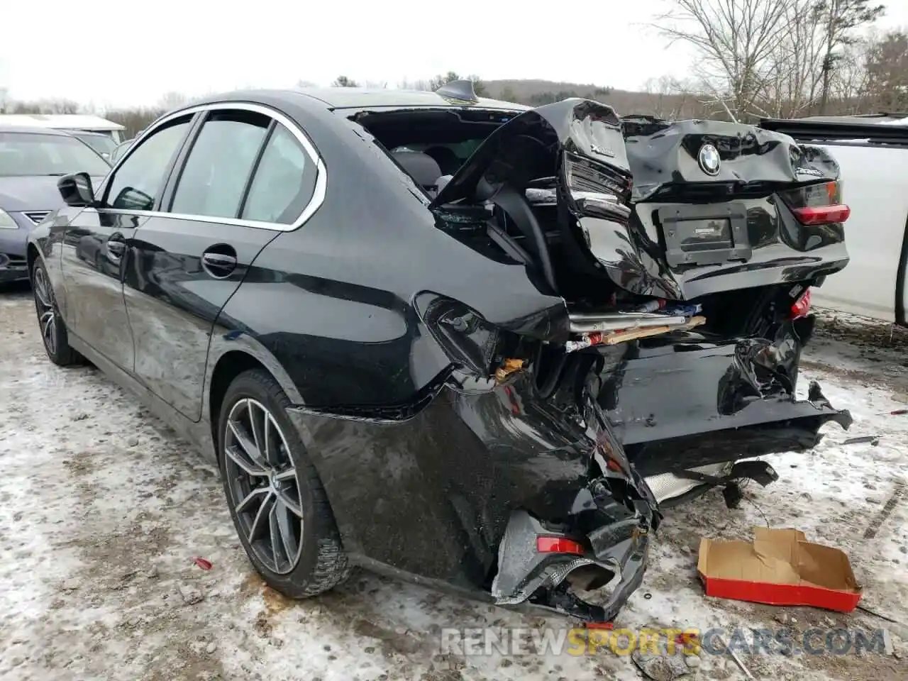
M288 228L280 222L288 209L281 196L296 200L291 212L311 197L315 163L299 131L273 115L252 104L208 105L172 173L163 211L127 242L124 296L136 376L192 420L202 415L214 321L255 256Z

